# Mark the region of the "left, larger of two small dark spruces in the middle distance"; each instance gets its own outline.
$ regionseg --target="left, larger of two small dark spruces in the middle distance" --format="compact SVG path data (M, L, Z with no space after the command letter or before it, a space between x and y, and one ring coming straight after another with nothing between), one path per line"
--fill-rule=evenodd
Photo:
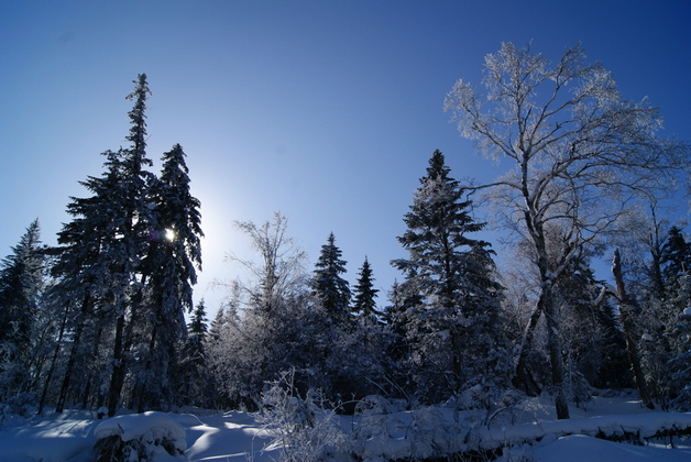
M321 254L316 264L311 287L314 295L321 301L329 317L337 323L349 320L350 284L340 275L346 273L346 264L341 260L341 250L336 246L333 233L321 246Z

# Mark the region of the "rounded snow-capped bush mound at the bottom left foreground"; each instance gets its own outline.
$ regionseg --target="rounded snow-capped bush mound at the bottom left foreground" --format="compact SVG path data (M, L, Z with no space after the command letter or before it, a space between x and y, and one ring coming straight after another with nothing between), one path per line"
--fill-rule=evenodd
M96 462L152 462L158 454L183 459L187 449L185 429L164 413L113 417L96 427L94 436Z

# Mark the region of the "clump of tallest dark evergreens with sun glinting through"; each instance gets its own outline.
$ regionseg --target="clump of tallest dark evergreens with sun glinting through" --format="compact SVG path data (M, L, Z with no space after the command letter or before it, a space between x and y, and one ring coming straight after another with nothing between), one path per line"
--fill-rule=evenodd
M169 408L175 397L177 350L186 338L185 311L200 268L200 204L189 193L179 145L163 155L161 177L146 170L146 76L134 81L127 148L106 151L105 172L72 198L72 221L52 249L52 306L59 307L58 342L44 377L43 403L123 404ZM61 345L61 340L70 341ZM54 374L62 380L48 392Z

